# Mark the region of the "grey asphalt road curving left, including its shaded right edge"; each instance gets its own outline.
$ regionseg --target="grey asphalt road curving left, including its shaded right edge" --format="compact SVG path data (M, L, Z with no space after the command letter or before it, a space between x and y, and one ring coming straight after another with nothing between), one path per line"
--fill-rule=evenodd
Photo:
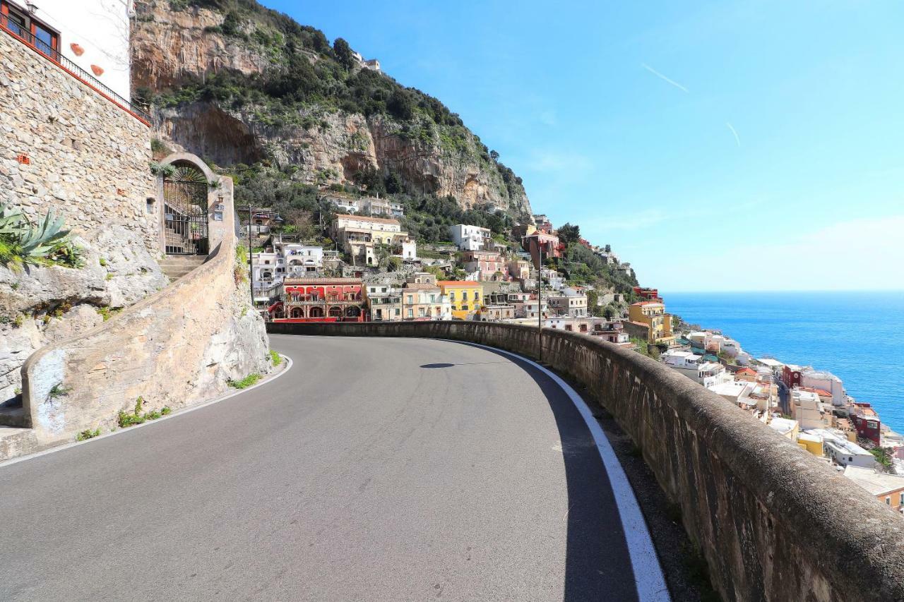
M273 336L274 381L0 466L0 600L637 599L589 429L463 343Z

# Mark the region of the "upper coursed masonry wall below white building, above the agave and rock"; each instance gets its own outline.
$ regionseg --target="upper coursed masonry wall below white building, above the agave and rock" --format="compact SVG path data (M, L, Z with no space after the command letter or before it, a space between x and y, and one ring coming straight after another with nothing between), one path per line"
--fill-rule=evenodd
M159 253L149 127L5 32L0 107L0 202L33 220L53 208L75 234L118 225Z

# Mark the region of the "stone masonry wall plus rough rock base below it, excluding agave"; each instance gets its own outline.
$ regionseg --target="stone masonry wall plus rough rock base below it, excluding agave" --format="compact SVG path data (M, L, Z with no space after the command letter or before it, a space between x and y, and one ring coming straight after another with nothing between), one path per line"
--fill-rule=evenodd
M0 140L0 203L32 221L49 209L61 214L85 260L79 269L0 266L4 405L16 403L20 368L34 351L168 281L156 262L157 216L146 212L156 190L149 127L3 31Z

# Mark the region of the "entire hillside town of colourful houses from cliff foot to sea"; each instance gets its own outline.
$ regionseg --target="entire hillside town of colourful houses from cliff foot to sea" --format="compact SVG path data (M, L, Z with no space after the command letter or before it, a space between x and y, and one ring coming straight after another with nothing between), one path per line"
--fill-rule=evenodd
M508 237L455 224L448 242L421 245L402 230L398 202L337 198L325 223L333 248L285 232L267 208L240 208L254 301L272 322L473 320L542 325L644 353L717 393L904 514L904 437L831 372L755 358L714 330L666 311L655 288L595 287L556 268L566 249L546 215ZM608 246L577 243L626 275Z

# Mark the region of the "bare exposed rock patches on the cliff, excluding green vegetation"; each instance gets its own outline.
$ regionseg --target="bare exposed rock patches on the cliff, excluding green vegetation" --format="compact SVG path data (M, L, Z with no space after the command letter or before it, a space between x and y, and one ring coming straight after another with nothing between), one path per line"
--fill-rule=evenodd
M173 11L160 0L139 0L133 33L136 87L178 89L223 71L245 75L265 71L271 58L253 43L218 33L224 15L207 8ZM258 50L255 50L258 48ZM316 62L312 53L309 60ZM159 135L174 146L217 165L268 159L297 167L295 177L327 185L350 182L374 170L398 174L410 193L451 195L466 208L494 207L522 216L531 204L520 179L482 157L479 138L466 132L450 144L419 116L400 121L388 115L311 108L293 119L274 120L259 107L225 108L215 100L189 101L156 111Z

